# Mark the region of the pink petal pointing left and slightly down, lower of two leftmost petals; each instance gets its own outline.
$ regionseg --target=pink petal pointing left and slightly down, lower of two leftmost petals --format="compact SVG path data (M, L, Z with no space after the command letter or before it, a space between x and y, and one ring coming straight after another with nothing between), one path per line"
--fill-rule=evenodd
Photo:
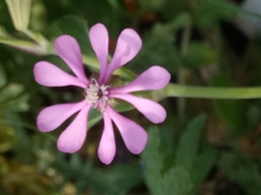
M64 120L82 109L87 102L57 104L44 108L37 116L37 127L42 132L49 132L61 126Z

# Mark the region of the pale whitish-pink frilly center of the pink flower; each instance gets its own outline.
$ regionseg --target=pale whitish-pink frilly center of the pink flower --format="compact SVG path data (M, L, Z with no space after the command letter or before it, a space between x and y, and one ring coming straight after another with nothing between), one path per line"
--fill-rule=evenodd
M108 105L108 88L109 86L99 84L95 78L92 78L84 91L84 96L87 103L92 104L94 108L99 106L100 112L103 113Z

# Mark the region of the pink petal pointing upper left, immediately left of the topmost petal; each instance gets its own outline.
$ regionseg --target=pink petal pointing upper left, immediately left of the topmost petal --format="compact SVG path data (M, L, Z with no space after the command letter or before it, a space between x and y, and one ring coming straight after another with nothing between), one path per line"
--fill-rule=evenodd
M54 41L54 48L58 55L69 65L78 79L88 83L84 72L80 48L75 38L69 35L60 36Z

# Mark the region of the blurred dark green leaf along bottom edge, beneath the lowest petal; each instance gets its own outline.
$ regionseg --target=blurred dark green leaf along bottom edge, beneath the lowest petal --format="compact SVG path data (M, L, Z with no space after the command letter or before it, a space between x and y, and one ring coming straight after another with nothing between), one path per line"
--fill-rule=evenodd
M66 171L65 183L73 179L76 180L78 194L90 190L94 194L123 195L142 181L140 166L137 161L99 170L95 169L90 161L83 161L78 154L74 154L71 155L70 162L59 158L57 169L61 172Z

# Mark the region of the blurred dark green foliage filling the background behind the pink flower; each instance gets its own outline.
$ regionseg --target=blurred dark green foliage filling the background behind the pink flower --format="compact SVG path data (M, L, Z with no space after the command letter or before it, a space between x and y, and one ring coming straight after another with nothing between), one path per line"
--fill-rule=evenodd
M21 12L25 21L30 13L27 28L23 20L14 24L5 1L0 1L0 194L260 194L261 100L175 99L163 94L161 104L167 118L159 126L152 126L132 107L119 105L119 110L127 110L124 115L148 131L149 141L144 153L134 156L115 131L117 153L110 166L97 156L102 130L97 112L89 116L85 145L73 155L57 150L57 138L65 125L42 133L35 122L41 108L80 99L80 92L70 87L37 84L35 63L46 60L70 72L53 50L53 40L67 34L78 40L88 72L97 70L87 37L96 23L108 27L111 53L123 28L138 31L142 49L126 65L134 73L159 64L172 74L174 83L260 86L260 36L247 37L235 21L239 13L261 16L241 3L32 0L30 12ZM132 79L132 72L123 69L119 75Z

